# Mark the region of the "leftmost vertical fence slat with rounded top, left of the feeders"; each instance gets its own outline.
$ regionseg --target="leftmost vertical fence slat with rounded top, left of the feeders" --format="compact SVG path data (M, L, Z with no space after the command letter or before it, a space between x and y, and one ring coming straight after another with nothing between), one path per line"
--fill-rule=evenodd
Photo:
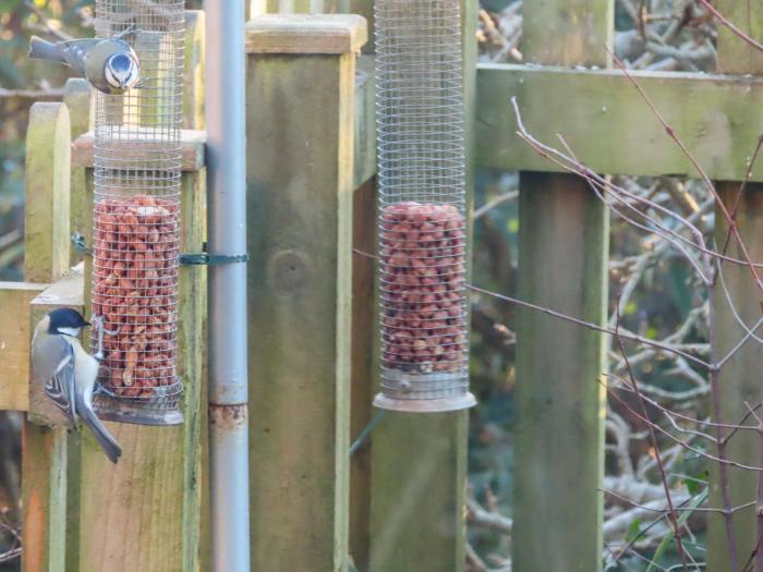
M24 276L51 282L69 268L71 135L63 104L35 104L26 134ZM40 316L31 316L32 320ZM24 572L63 572L66 430L25 422L22 434Z

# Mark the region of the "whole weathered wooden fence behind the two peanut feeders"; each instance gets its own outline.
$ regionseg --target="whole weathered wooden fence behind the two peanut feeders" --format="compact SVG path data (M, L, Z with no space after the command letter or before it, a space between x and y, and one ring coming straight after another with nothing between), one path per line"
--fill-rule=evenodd
M749 14L718 0L732 20ZM562 133L597 172L695 177L638 94L608 70L610 0L525 2L523 53L542 66L475 66L476 5L464 0L470 173L521 171L520 296L606 322L608 217L586 184L516 136L510 97L541 139ZM352 248L374 247L374 118L371 53L355 58L366 26L352 16L263 16L264 11L355 12L368 0L253 1L246 28L250 210L252 570L445 572L464 567L468 413L388 414L351 458L373 416L376 387L374 267ZM760 36L763 8L750 25ZM187 13L183 132L183 250L205 236L203 13ZM711 177L739 181L760 133L763 58L725 28L719 71L635 73ZM596 66L595 69L593 66ZM87 311L93 137L89 90L70 81L62 104L35 104L27 134L23 283L0 283L0 409L28 413L23 433L25 572L209 570L206 495L205 269L181 271L180 367L184 425L110 425L124 448L112 466L89 435L46 425L28 379L31 324L51 307ZM196 130L196 131L194 131ZM470 181L473 179L469 178ZM763 165L752 172L763 181ZM719 183L722 190L728 183ZM751 185L739 218L763 248L763 186ZM729 193L725 196L731 197ZM471 193L470 193L471 197ZM723 232L723 229L719 229ZM538 264L541 261L541 264ZM758 303L743 269L732 295ZM508 284L507 284L508 287ZM732 316L718 307L717 349ZM728 333L726 333L728 332ZM750 354L750 352L754 352ZM601 569L605 370L601 336L521 311L514 453L513 570ZM760 385L760 349L724 372L727 416ZM40 424L43 423L43 424ZM731 454L756 458L754 438ZM750 464L754 464L753 461ZM734 495L754 483L732 472ZM713 485L713 495L717 486ZM735 501L736 502L736 501ZM738 538L752 549L752 516ZM708 570L724 572L724 535L711 516Z

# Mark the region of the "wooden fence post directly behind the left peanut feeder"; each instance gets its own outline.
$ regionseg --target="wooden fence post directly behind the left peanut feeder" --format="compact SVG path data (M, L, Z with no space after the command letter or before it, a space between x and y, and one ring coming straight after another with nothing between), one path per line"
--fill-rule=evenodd
M186 13L185 124L198 125L203 94L203 22ZM198 85L197 85L198 84ZM181 252L201 252L205 238L206 173L184 172L181 183ZM93 174L87 173L86 210L93 208ZM88 242L90 224L86 227ZM86 277L89 276L89 259ZM89 279L85 280L89 290ZM185 384L185 423L174 427L142 427L109 423L123 449L111 465L87 433L83 434L81 466L81 572L202 570L202 487L205 485L201 427L206 270L183 266L179 293L178 372ZM93 538L99 541L94 543ZM199 557L201 553L201 557Z

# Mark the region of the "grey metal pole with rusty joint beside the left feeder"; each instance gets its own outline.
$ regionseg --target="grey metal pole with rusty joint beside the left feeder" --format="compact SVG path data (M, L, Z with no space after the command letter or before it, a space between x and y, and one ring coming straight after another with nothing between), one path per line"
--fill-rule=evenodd
M244 3L207 0L207 247L246 253ZM246 264L208 267L209 485L214 572L249 572Z

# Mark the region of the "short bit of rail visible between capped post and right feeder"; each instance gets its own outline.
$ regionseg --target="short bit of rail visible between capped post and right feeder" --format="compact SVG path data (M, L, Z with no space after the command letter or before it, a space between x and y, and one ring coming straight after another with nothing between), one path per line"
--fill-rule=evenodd
M374 59L363 56L355 72L354 169L352 187L359 188L376 173L376 120Z

